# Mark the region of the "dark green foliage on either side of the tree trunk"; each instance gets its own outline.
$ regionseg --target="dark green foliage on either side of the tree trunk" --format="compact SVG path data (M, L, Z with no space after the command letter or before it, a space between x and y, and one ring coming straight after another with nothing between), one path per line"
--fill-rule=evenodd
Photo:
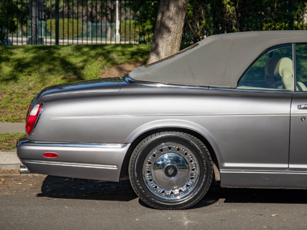
M153 33L159 2L130 1L130 7L140 12L140 34ZM303 30L306 9L305 0L189 0L182 42L231 32Z

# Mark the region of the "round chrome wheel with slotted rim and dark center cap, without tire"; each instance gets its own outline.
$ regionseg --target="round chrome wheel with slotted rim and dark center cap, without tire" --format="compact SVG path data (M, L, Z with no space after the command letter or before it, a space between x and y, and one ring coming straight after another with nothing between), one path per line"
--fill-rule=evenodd
M194 153L178 143L164 143L152 149L143 164L143 179L150 192L176 200L193 191L199 180Z

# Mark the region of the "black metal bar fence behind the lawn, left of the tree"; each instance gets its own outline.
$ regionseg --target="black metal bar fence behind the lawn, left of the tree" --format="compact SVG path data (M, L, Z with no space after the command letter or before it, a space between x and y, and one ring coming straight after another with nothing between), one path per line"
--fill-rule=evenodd
M27 11L27 22L18 25L7 44L111 44L138 43L140 12L129 1L16 0ZM145 35L142 35L145 36ZM152 35L148 35L152 36Z

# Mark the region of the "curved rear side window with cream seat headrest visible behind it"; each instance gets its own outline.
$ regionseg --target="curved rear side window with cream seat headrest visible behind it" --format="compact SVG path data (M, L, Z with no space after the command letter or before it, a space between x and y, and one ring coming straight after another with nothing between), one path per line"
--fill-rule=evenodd
M245 72L237 88L255 90L293 89L292 44L267 50Z

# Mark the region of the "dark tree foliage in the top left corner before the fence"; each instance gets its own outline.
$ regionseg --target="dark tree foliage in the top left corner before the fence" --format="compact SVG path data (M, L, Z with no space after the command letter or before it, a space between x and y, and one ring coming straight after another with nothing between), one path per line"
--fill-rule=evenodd
M17 19L18 15L18 19ZM25 21L26 14L13 0L0 0L0 45L5 44L9 33L17 30L17 21Z

